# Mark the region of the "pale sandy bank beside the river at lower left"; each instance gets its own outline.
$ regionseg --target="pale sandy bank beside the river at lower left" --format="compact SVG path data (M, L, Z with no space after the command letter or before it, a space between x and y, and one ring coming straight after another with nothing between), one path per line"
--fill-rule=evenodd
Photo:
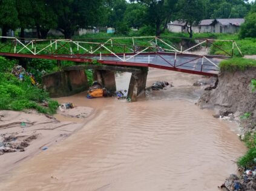
M21 143L24 147L24 142L29 145L25 146L24 150L15 149L16 152L5 152L0 156L0 179L21 161L33 157L38 152L44 152L43 149L84 127L91 113L93 108L90 107L59 111L54 117L35 111L0 111L0 143L11 137L11 141L7 142L10 147L17 148Z

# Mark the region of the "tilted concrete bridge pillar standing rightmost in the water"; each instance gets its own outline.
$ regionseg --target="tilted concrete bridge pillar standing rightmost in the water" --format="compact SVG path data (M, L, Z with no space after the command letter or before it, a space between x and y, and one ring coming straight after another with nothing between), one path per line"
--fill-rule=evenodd
M145 96L146 77L148 76L148 68L141 70L141 72L133 72L131 74L131 81L128 90L128 97L131 101L137 101L140 96Z

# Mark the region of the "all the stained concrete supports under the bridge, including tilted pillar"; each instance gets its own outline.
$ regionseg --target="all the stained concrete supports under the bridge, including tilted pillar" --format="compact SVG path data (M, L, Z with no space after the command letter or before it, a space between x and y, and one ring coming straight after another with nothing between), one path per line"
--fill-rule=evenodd
M53 98L70 96L88 90L85 69L93 69L93 78L107 90L116 91L115 71L131 72L128 97L136 101L137 97L145 96L148 68L123 66L71 66L53 74L42 77L45 89Z

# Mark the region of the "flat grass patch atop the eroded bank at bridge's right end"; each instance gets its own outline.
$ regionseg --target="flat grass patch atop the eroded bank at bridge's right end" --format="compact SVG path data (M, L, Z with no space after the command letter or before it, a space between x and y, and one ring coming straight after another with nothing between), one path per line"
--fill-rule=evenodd
M249 67L256 67L256 60L247 58L231 58L220 62L219 66L222 71L244 71Z

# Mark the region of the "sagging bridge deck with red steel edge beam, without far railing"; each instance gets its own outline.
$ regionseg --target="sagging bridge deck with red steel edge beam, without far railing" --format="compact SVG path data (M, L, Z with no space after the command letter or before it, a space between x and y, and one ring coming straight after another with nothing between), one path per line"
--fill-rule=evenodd
M33 55L0 52L0 55L10 57L44 58L50 60L68 60L93 63L94 60L102 64L119 66L155 67L159 69L175 70L189 74L217 75L218 64L222 58L212 58L192 54L172 54L165 52L151 52L150 54L87 54L87 55Z

